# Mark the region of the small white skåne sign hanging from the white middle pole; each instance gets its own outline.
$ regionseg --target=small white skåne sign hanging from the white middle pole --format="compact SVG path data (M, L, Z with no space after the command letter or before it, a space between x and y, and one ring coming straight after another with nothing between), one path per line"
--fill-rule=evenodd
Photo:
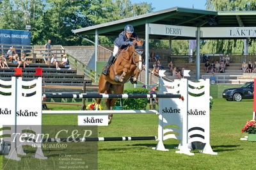
M108 115L78 115L78 126L108 126Z

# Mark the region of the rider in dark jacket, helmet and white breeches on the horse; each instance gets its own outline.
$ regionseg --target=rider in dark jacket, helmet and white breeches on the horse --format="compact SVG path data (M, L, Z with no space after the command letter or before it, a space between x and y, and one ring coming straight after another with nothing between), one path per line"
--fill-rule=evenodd
M138 35L134 32L133 27L131 25L125 26L124 31L122 31L122 33L119 34L118 38L115 39L113 55L111 55L111 57L108 59L106 68L102 72L104 75L108 75L109 66L116 58L116 55L118 55L118 50L125 49L129 45L132 45L132 41L134 39L138 40Z

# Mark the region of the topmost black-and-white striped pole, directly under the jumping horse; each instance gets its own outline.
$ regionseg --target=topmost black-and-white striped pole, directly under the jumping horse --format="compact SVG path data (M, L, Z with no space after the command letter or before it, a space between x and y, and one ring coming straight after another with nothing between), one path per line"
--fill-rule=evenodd
M44 98L181 98L172 94L45 93Z

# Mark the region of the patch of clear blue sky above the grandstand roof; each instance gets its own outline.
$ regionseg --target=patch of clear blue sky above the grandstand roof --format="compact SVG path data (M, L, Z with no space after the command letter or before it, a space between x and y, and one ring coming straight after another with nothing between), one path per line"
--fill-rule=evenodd
M141 3L141 2L152 3L152 6L155 8L154 12L157 12L159 10L165 10L175 6L192 8L193 5L194 5L194 8L196 9L205 10L206 0L144 0L144 1L131 0L131 2L132 3Z

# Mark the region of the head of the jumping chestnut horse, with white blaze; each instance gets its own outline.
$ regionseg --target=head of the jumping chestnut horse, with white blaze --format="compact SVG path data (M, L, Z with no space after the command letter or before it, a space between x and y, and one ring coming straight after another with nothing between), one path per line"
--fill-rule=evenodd
M143 40L137 41L134 40L134 50L132 60L133 63L137 66L139 71L142 71L142 64L143 64Z

